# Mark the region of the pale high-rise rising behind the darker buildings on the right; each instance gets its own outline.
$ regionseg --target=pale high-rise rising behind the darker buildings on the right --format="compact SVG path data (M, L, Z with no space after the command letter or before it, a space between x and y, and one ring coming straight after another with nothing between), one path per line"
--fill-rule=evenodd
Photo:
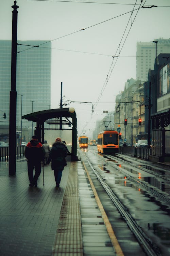
M170 38L169 39L154 39L154 42L137 42L136 52L136 79L147 81L148 70L154 69L155 57L156 57L156 45L157 56L160 53L170 53ZM156 45L155 45L156 44Z

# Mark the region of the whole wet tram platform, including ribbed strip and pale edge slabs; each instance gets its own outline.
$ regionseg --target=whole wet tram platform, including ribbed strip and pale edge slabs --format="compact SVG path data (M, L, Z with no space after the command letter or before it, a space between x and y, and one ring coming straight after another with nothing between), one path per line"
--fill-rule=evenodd
M81 161L67 162L60 187L51 163L38 186L30 187L27 161L16 160L16 175L0 162L0 255L116 255ZM120 254L121 255L121 254Z

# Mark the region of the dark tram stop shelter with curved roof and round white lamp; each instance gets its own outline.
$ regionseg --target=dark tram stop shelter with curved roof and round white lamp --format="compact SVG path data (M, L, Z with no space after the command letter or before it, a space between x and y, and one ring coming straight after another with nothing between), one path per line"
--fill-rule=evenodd
M70 120L71 118L71 120ZM34 135L38 136L38 140L44 143L45 130L72 130L72 151L71 161L77 161L77 117L74 108L48 109L33 112L22 116L22 119L36 122ZM44 127L44 123L49 124L49 128ZM50 128L50 125L58 125L58 128ZM68 128L63 128L67 125Z

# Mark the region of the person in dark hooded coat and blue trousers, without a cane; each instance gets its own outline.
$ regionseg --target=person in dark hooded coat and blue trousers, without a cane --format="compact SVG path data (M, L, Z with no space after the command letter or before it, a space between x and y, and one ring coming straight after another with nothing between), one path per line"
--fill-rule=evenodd
M47 165L51 161L51 170L54 170L54 177L56 187L60 186L62 172L67 165L65 157L67 156L66 145L62 142L61 138L56 138L52 145Z

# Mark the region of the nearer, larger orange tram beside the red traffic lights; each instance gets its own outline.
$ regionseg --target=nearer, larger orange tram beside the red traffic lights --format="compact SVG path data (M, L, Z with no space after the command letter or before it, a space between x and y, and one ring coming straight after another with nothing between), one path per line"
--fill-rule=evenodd
M98 134L98 152L114 154L119 150L119 134L117 131L102 131Z

